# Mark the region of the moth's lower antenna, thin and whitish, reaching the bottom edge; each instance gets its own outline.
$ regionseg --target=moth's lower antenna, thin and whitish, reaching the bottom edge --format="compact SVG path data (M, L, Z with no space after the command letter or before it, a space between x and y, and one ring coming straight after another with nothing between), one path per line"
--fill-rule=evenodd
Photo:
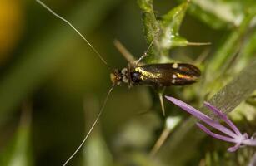
M93 128L94 128L94 126L97 124L99 117L103 114L103 109L104 109L104 107L105 107L105 105L106 105L106 103L107 103L107 100L108 100L108 97L109 97L111 91L113 90L113 87L114 87L114 85L112 85L112 87L110 88L110 90L108 90L108 94L107 94L107 96L106 96L106 98L105 98L105 100L104 100L104 102L103 102L103 105L102 105L101 109L100 109L99 112L98 112L97 118L94 120L93 125L92 125L91 128L89 129L88 134L86 134L86 136L84 137L82 143L78 146L78 148L74 151L74 153L67 159L67 161L63 164L63 166L66 166L66 165L68 164L68 162L69 162L71 159L73 159L73 156L78 153L79 149L82 148L83 144L84 144L85 141L88 139L88 136L92 133Z

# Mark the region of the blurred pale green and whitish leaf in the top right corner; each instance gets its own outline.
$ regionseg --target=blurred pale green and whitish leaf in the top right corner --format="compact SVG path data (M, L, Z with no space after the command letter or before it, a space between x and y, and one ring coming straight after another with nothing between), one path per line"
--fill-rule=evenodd
M253 1L192 0L188 12L209 27L216 29L238 27Z

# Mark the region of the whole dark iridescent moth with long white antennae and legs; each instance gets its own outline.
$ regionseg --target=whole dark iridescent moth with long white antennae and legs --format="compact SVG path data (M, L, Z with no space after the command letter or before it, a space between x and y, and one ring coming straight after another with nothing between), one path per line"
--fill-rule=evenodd
M45 3L40 0L36 0L40 5L45 7L48 12L51 12L55 17L58 17L63 22L66 22L70 27L73 28L75 32L78 33L80 37L92 48L92 50L97 54L99 59L103 61L103 63L108 66L111 70L110 80L112 81L112 86L108 90L108 94L103 101L103 105L101 106L97 118L93 121L93 125L86 134L83 142L78 146L75 152L68 158L68 160L63 164L63 166L67 165L70 159L73 159L73 156L78 153L78 150L81 149L85 141L88 139L89 134L91 134L94 126L97 124L99 117L103 113L103 109L107 103L108 97L111 94L113 87L116 85L128 85L128 87L132 87L133 85L149 85L154 88L164 88L171 85L190 85L194 82L198 81L199 76L201 75L200 70L197 66L193 66L188 63L163 63L163 64L143 64L141 61L145 56L148 56L148 51L150 47L153 45L153 41L151 41L148 46L148 50L145 51L143 56L141 56L138 61L135 61L133 56L128 52L128 50L119 42L115 41L114 45L117 47L118 51L128 60L128 66L123 67L123 69L113 69L108 65L107 61L103 59L103 56L99 54L99 52L93 47L93 45L85 38L83 35L78 32L78 30L73 27L73 25L68 22L68 20L59 16L56 12L48 7ZM198 43L198 45L205 45L208 43ZM163 107L163 94L159 93L159 99L161 101L161 106L164 114Z

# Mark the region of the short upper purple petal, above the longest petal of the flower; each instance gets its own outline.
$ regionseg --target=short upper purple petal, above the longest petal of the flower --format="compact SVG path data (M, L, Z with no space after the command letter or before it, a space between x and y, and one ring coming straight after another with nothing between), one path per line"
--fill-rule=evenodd
M224 120L226 122L226 124L228 124L230 126L231 129L233 129L233 131L238 134L239 136L241 136L241 132L239 131L239 129L236 127L236 125L233 124L233 122L231 120L228 119L228 116L225 115L221 110L218 110L216 107L214 107L213 105L211 105L208 102L204 102L203 103L205 106L208 107L208 109L213 110L213 112L218 115L219 118L221 118L222 120Z

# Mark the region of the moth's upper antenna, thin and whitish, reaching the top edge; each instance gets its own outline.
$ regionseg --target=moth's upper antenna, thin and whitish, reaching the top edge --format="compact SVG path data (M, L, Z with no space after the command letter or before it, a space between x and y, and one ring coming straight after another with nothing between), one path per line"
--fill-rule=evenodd
M77 32L80 37L83 38L83 41L85 41L85 42L93 49L93 51L98 55L99 59L100 59L101 61L103 61L103 63L104 63L106 66L108 66L108 63L107 63L107 61L105 61L105 60L103 59L103 56L100 55L100 53L93 47L93 45L92 45L85 37L83 37L83 35L82 35L80 32L78 32L78 30L77 30L75 27L73 27L73 25L72 25L70 22L68 22L68 20L66 20L65 18L59 16L56 12L53 12L53 10L52 10L50 7L48 7L45 3L41 2L40 0L36 0L36 2L38 2L38 3L39 3L40 5L42 5L44 8L46 8L46 9L47 9L49 12L51 12L55 17L58 17L59 19L63 20L63 22L66 22L70 27L72 27L73 30L74 30L75 32ZM108 67L111 68L110 66L108 66Z

